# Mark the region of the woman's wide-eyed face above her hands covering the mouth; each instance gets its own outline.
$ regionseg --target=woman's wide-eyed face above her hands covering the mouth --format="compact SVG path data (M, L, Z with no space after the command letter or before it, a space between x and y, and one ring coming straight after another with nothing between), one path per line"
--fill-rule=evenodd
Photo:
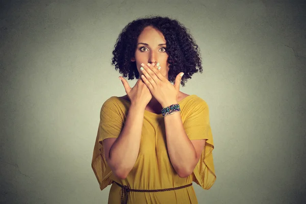
M136 61L139 75L142 74L140 70L141 63L160 63L160 72L168 79L169 64L167 63L168 54L166 53L166 40L164 35L153 27L146 27L141 32L137 41L137 48L135 50L135 58L131 61Z

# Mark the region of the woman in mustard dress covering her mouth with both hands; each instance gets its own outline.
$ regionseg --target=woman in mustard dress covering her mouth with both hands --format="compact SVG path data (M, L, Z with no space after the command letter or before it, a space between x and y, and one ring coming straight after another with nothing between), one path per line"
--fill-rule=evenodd
M126 95L100 111L92 168L101 190L112 184L109 203L197 203L192 182L214 184L208 106L180 91L202 72L197 47L168 17L134 20L119 35L112 64L138 81L119 77Z

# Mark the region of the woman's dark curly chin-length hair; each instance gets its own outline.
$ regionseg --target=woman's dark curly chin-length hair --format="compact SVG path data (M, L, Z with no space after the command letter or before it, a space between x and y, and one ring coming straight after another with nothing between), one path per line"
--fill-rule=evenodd
M138 36L147 26L159 30L165 37L169 64L168 80L170 82L174 83L176 75L184 72L181 85L185 86L193 73L198 71L202 73L200 49L189 34L189 30L175 19L152 16L138 18L127 24L116 41L112 65L116 70L119 69L119 73L123 74L123 77L129 75L129 80L133 80L134 77L139 79L136 62L132 62L131 59L135 55Z

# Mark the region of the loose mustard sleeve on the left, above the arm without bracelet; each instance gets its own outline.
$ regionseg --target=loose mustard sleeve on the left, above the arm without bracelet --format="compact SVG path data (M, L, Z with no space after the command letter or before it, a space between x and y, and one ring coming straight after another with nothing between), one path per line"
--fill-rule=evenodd
M91 162L91 167L101 190L112 184L112 180L109 179L112 170L106 162L103 140L106 138L117 138L123 126L122 110L114 100L114 97L111 97L105 101L100 110L100 122Z

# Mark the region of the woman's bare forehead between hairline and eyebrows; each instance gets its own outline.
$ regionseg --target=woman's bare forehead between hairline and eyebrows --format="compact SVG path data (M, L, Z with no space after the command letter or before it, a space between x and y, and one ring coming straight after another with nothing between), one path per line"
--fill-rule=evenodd
M138 43L143 42L149 45L166 43L164 35L153 27L146 27L138 37Z

